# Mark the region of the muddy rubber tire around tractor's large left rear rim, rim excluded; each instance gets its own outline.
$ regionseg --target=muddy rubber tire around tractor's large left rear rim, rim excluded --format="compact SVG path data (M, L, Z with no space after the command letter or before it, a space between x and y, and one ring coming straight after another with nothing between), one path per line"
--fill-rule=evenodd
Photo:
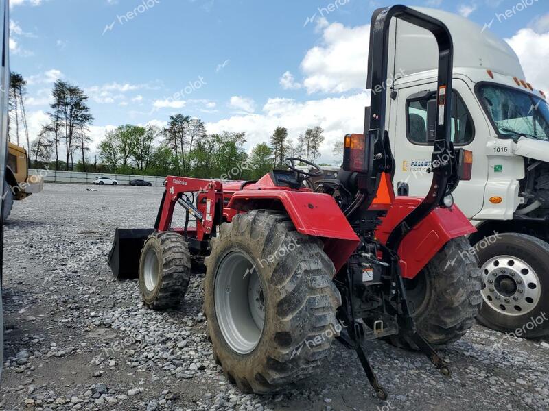
M230 243L235 237L249 238L263 258L290 242L300 246L299 252L287 253L285 258L266 264L270 270L270 284L276 289L270 298L275 301L277 323L273 325L275 338L268 340L267 355L261 364L255 363L250 368L246 362L231 361L224 347L220 349L215 344L215 340L223 337L215 336L217 331L212 321L208 321L213 355L222 364L224 373L245 392L274 393L312 375L329 354L331 338L325 338L322 344L311 348L304 342L325 336L329 330L335 335L338 324L336 310L341 298L331 280L335 274L334 264L323 252L322 242L296 232L285 213L253 210L248 214L238 214L231 223L221 225L220 234L212 239L211 256L205 260L207 276L213 275L211 271L220 257L218 247ZM208 319L215 313L211 300L213 298L206 299ZM301 351L298 353L299 347Z

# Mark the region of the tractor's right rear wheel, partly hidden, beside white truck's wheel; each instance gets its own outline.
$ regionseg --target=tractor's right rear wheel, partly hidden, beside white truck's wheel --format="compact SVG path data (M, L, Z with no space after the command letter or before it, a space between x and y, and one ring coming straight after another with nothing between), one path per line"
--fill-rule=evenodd
M454 238L417 277L405 280L417 331L432 345L459 340L480 310L482 279L478 260L465 237ZM393 336L397 347L417 349L404 334Z

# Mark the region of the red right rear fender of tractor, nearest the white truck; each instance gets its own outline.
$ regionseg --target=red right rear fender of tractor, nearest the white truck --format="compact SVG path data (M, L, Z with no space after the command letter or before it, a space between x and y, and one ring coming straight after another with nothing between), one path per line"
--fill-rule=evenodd
M397 197L375 235L385 243L389 234L423 199ZM402 277L413 279L436 256L449 240L476 232L467 216L457 206L434 209L401 242L398 249ZM471 253L471 249L463 253Z

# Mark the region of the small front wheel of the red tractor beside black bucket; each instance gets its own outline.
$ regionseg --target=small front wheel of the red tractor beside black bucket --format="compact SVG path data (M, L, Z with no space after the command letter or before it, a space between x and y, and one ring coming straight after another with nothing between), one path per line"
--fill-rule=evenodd
M191 254L183 236L174 232L151 234L139 260L139 291L154 310L178 308L187 292Z

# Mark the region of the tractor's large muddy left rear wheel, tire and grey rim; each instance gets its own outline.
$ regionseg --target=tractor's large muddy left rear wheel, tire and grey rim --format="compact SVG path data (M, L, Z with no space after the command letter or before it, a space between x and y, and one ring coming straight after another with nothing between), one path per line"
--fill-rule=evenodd
M205 310L213 357L246 393L274 393L328 356L341 326L322 242L270 210L237 214L211 240Z

